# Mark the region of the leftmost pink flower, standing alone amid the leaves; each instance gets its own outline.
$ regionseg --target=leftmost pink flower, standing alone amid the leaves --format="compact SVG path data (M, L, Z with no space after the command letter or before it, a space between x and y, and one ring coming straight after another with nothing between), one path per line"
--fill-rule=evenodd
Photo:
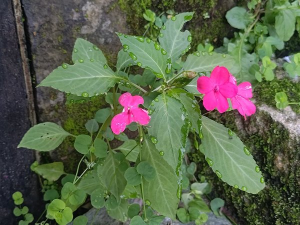
M115 134L123 132L126 125L131 122L138 122L141 125L146 125L150 121L150 116L148 112L137 105L143 103L143 98L141 96L132 96L130 93L123 93L119 99L119 103L124 106L121 113L113 116L111 120L111 130Z

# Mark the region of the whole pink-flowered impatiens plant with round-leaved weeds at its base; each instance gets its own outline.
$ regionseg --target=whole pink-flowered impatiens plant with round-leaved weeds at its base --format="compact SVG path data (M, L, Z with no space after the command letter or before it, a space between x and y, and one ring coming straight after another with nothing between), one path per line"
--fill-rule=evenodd
M20 141L18 147L50 151L72 136L74 150L82 154L76 173L63 177L59 199L48 205L48 219L66 224L73 218L72 211L90 202L97 209L105 207L113 218L132 218L130 224L160 224L164 216L175 219L176 214L184 220L184 210L189 210L189 220L202 223L210 211L207 206L197 206L197 202L204 203L202 184L193 184L189 203L186 195L181 195L189 188L189 180L195 180L195 163L187 165L183 160L190 148L188 136L194 143L201 142L200 146L195 144L198 153L232 188L257 193L264 187L250 150L233 131L201 115L201 100L207 110L216 108L219 112L232 104L244 117L253 114L255 106L248 99L251 84L236 85L229 73L236 75L232 56L196 51L181 62L192 40L190 32L181 29L192 16L193 12L184 12L167 19L158 40L116 33L123 48L115 68L108 66L96 45L78 38L73 64L63 63L38 85L65 92L66 103L82 103L102 95L108 106L86 122L86 133L76 136L44 122L31 127ZM142 75L130 74L131 66L140 67ZM134 139L123 133L126 127L137 130ZM114 138L123 143L111 148ZM51 181L65 174L61 163L59 168L49 164L43 169L36 165L39 169L35 170ZM129 198L141 198L142 205L129 204ZM186 206L177 211L180 199ZM217 213L222 205L216 199L211 210ZM85 217L75 219L81 220L86 224Z

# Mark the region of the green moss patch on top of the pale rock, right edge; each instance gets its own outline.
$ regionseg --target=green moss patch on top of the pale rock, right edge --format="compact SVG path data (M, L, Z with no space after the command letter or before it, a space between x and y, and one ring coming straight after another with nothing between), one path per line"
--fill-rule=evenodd
M292 82L290 78L273 79L272 81L262 81L255 87L255 96L258 103L265 103L276 107L276 92L284 91L289 102L300 102L300 83ZM290 107L297 114L300 113L300 105L290 104Z

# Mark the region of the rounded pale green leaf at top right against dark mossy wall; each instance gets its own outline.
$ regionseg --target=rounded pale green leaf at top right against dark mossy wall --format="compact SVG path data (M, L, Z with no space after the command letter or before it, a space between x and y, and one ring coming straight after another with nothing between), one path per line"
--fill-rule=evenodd
M253 20L243 7L233 7L226 12L228 23L238 29L244 29Z

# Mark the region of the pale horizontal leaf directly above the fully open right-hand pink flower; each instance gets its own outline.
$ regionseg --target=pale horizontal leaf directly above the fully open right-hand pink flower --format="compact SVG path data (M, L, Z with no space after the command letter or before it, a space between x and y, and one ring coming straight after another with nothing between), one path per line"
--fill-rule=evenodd
M234 64L234 58L227 54L220 54L215 52L195 52L189 54L186 61L183 64L184 70L194 71L194 72L205 72L212 71L212 69L219 65L225 66L227 69Z

